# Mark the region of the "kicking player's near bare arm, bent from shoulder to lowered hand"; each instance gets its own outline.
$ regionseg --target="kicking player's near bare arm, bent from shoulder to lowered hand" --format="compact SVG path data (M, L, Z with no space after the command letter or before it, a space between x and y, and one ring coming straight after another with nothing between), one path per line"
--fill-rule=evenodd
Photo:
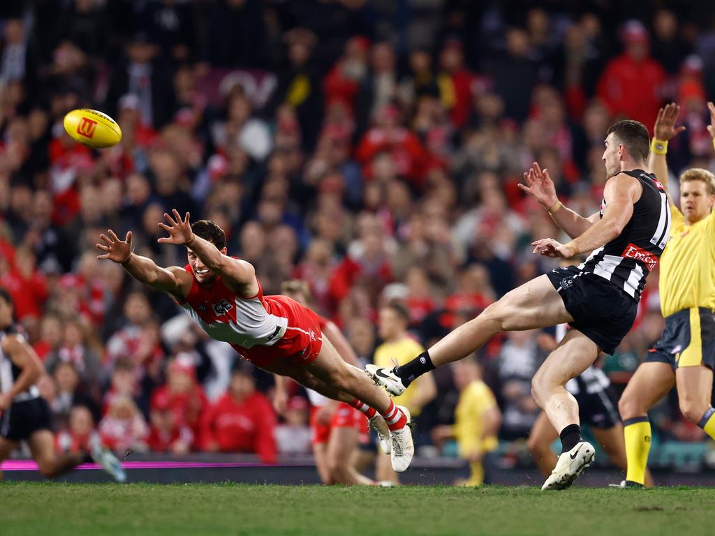
M619 173L611 177L603 191L603 199L606 200L603 218L568 244L561 244L551 238L536 240L531 244L534 247L533 253L567 258L603 246L621 234L633 215L633 204L640 199L642 192L643 187L638 180L628 174Z

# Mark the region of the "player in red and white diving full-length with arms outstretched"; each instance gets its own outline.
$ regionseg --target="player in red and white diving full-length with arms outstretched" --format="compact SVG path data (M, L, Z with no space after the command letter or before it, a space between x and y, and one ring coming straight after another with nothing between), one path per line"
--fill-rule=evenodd
M393 469L406 470L415 450L410 413L340 358L317 314L289 297L264 296L252 264L227 256L223 229L206 219L190 224L188 212L184 219L176 209L173 214L164 214L168 225L159 223L169 237L158 242L185 245L185 267L157 266L132 252L132 232L120 240L111 229L100 235L104 253L97 259L117 262L137 281L170 294L209 337L228 342L257 367L347 402L373 422L384 419Z

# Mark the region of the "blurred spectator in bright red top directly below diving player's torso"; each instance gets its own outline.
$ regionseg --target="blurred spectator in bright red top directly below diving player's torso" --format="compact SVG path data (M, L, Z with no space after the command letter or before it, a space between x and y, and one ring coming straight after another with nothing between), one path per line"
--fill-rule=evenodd
M235 367L228 392L202 420L204 450L250 452L264 463L275 463L276 417L270 401L257 392L252 367Z

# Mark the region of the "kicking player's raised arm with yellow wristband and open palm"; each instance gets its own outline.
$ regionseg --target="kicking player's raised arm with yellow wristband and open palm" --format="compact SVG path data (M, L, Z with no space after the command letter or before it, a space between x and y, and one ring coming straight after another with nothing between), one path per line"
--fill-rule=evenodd
M561 203L556 197L556 187L548 176L548 169L541 169L538 162L534 162L524 174L524 182L526 184L519 184L519 188L536 199L569 237L578 237L598 221L598 212L584 218Z

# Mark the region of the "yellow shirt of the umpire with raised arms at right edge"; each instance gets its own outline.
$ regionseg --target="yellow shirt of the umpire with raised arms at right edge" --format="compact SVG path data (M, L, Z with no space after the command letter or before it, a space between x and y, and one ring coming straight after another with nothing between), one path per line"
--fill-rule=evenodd
M715 309L715 212L694 225L671 204L671 236L661 255L661 312Z

